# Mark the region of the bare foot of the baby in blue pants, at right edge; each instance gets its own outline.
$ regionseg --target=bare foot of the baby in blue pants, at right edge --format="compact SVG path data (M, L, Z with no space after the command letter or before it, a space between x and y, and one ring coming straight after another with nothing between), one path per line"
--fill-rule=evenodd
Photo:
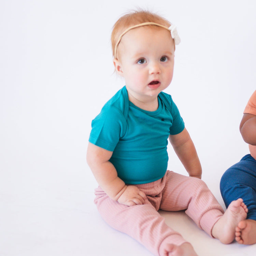
M245 219L240 221L236 227L236 241L240 244L256 243L256 221Z

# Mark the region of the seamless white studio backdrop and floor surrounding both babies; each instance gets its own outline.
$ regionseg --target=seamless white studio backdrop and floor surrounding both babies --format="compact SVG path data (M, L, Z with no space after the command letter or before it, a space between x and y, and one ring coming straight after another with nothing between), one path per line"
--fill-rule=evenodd
M115 21L148 9L174 23L171 94L218 201L224 171L248 153L239 133L256 78L253 0L0 1L0 255L151 255L105 224L85 156L91 120L124 86L113 73ZM172 151L169 169L186 174ZM161 213L199 256L254 255L222 245L184 213Z

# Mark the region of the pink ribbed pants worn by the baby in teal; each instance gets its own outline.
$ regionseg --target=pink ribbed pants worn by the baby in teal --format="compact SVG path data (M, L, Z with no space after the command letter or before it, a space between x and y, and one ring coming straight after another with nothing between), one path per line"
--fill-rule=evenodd
M207 185L200 179L172 171L158 181L136 185L147 196L143 205L126 206L110 199L99 187L95 203L102 218L113 228L143 244L155 255L168 255L166 243L186 242L181 234L165 224L157 212L186 210L186 214L210 236L212 227L224 211Z

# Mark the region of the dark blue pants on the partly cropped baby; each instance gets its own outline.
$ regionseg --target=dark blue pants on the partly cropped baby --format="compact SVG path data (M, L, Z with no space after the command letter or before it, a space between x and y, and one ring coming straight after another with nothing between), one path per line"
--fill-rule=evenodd
M226 207L242 198L248 208L247 219L256 221L256 160L250 154L223 174L220 188Z

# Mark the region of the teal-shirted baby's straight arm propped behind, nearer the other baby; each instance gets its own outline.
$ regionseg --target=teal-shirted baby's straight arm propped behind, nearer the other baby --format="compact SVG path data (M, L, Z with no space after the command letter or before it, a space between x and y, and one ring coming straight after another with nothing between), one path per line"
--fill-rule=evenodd
M194 143L191 140L186 128L184 128L184 130L178 134L170 135L169 140L189 176L201 179L201 163L199 161Z

